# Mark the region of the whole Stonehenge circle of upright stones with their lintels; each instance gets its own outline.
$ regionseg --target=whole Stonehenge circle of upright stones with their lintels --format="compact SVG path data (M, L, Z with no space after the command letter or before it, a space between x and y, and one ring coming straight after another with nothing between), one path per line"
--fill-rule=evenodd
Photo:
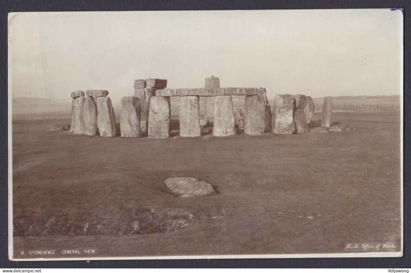
M121 99L120 132L122 137L169 138L171 96L180 96L180 136L201 136L201 127L209 126L214 136L264 133L328 133L341 131L331 126L332 100L324 98L322 120L314 121L314 103L305 95L277 94L272 107L265 88L220 88L219 78L205 78L204 88L167 89L166 79L137 79L134 96ZM116 135L116 118L106 90L72 92L74 134ZM204 97L204 117L199 112L199 97ZM231 96L245 96L244 111L236 117ZM336 127L336 128L333 128ZM350 128L347 128L350 129Z

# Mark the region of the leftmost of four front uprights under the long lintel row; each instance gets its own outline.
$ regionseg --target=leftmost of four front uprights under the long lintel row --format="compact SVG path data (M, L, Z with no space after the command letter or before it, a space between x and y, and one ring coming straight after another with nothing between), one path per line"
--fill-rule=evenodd
M170 98L154 96L150 100L148 136L168 138L170 136Z

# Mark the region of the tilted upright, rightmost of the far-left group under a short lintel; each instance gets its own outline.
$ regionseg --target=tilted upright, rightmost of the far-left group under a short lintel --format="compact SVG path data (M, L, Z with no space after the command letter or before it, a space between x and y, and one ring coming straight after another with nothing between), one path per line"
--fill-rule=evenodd
M97 98L97 126L101 136L115 136L115 114L109 97Z

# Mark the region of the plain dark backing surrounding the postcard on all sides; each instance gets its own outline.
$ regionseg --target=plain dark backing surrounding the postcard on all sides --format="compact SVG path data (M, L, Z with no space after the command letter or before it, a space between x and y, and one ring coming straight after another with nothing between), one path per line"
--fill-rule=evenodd
M410 268L410 16L411 1L387 0L176 0L176 1L0 1L0 268ZM192 259L192 260L100 260L100 261L9 261L7 230L7 14L9 12L132 11L132 10L248 10L248 9L404 9L404 256L401 258L312 258L312 259Z

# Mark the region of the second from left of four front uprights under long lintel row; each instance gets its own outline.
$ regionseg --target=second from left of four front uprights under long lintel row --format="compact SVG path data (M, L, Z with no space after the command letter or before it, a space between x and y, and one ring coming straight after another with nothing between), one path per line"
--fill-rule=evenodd
M180 97L180 136L196 137L201 135L198 96Z

